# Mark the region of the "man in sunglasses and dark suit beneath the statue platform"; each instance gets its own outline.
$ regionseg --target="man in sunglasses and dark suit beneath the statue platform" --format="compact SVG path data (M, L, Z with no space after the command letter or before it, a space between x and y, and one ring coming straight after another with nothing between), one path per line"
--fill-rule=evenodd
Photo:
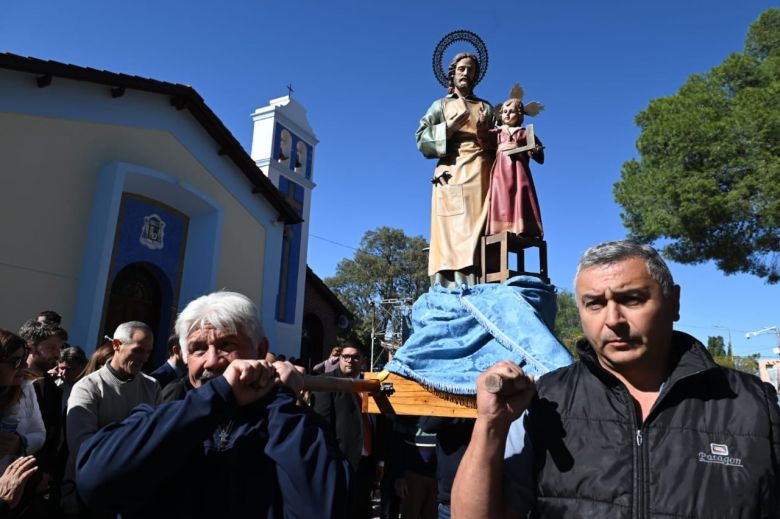
M334 377L359 378L364 360L363 353L354 345L341 349L339 367ZM371 491L381 479L384 462L378 459L374 445L376 422L373 415L361 413L359 393L315 392L313 408L333 427L336 441L356 472L355 501L350 517L371 517Z

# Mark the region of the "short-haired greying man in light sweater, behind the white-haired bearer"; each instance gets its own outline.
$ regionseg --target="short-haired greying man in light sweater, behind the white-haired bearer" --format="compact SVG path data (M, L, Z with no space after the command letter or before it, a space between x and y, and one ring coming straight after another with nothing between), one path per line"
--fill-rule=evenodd
M139 404L160 403L160 385L141 372L154 347L152 329L140 321L122 323L117 326L111 343L114 348L111 360L76 382L68 398L66 481L74 478L79 447L98 429L124 420ZM74 511L72 495L63 495L63 506Z

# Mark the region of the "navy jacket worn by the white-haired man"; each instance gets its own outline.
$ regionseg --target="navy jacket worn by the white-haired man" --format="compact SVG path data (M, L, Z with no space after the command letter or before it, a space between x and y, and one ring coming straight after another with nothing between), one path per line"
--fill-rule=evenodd
M350 469L326 427L286 388L238 407L220 377L98 431L76 485L123 518L344 517Z

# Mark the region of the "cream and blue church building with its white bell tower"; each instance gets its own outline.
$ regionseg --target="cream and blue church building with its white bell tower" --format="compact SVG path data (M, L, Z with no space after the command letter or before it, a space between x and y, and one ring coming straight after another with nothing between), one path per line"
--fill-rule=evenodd
M299 356L317 139L289 96L253 119L250 155L189 86L0 54L0 327L55 310L89 354L141 320L159 364L225 289Z

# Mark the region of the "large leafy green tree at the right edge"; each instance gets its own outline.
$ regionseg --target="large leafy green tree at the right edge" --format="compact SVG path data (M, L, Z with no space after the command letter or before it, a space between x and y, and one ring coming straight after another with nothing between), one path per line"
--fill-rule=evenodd
M745 51L636 117L640 160L614 195L629 235L664 239L681 263L780 281L780 9L750 27Z

